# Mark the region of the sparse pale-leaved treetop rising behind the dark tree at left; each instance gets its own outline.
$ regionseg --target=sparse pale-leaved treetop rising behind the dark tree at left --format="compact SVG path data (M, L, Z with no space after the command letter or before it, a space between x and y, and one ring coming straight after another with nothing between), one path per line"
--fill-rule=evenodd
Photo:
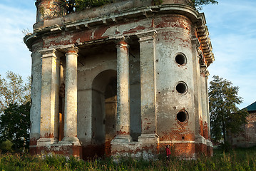
M19 74L11 71L6 72L6 78L0 75L0 113L9 105L25 104L30 101L31 77L28 77L26 83Z

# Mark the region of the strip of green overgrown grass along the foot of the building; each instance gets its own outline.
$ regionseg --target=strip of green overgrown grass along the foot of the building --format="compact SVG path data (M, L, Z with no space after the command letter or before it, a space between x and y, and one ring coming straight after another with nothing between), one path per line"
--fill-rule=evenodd
M198 160L145 161L128 158L119 163L110 158L83 161L75 157L53 155L32 157L30 155L5 154L0 156L0 170L256 170L256 147L230 152L215 150L214 156Z

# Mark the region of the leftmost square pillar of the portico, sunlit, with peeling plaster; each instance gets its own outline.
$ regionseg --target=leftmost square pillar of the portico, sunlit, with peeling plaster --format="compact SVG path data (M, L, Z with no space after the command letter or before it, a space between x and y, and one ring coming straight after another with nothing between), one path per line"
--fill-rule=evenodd
M60 63L55 49L42 53L41 69L41 125L37 145L50 145L56 142L58 130L58 86Z

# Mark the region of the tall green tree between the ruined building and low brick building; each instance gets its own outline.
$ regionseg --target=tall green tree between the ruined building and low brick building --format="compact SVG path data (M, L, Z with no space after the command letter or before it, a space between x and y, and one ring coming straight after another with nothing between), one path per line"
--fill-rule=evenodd
M247 111L236 106L242 103L238 90L237 86L219 76L213 76L213 81L210 81L210 126L214 140L223 138L226 143L227 133L238 133L241 125L246 123Z

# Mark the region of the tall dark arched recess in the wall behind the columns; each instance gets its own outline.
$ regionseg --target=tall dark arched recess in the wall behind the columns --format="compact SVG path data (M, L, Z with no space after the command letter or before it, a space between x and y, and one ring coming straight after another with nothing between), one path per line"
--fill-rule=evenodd
M116 135L116 71L106 70L92 85L92 143L97 156L111 155Z

